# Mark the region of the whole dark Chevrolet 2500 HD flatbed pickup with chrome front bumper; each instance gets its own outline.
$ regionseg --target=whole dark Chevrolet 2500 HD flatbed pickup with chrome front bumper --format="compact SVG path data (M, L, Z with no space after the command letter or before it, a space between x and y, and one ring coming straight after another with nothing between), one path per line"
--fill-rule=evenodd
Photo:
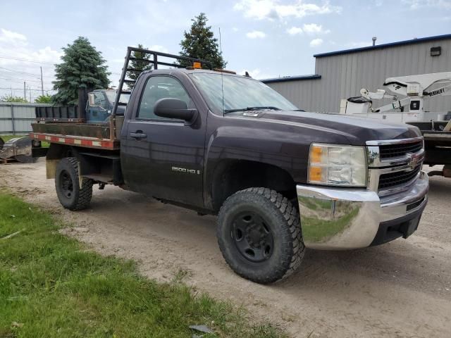
M130 68L135 51L154 69ZM107 123L33 124L30 137L51 143L47 178L61 204L82 210L94 185L114 184L218 215L230 268L265 284L297 270L305 248L359 249L416 230L428 199L418 128L300 111L266 84L211 68L128 47Z

